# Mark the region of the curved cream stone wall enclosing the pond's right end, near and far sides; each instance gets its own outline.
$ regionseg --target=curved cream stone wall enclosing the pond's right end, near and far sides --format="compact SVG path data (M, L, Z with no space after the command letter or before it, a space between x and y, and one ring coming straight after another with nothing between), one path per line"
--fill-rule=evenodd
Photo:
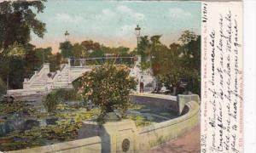
M137 128L137 152L150 150L169 140L177 139L178 136L189 132L200 121L200 101L199 96L195 94L178 95L177 98L159 94L135 94L132 102L138 105L160 107L182 115L166 122Z

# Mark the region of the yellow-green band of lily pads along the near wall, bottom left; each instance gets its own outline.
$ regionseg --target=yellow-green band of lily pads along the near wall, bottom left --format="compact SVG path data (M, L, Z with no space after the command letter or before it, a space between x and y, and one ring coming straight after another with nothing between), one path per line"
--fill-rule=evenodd
M57 125L15 131L0 139L0 150L21 150L27 147L41 146L44 145L45 140L51 139L55 139L57 142L73 140L78 135L77 131L81 126L81 122L61 121ZM14 139L16 140L14 141Z

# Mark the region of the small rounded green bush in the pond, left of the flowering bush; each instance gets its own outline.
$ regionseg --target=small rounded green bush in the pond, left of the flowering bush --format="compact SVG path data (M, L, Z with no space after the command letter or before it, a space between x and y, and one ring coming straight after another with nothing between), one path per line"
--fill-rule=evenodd
M61 103L61 95L57 93L57 91L52 91L42 100L44 108L48 112L54 112L56 110L57 105Z

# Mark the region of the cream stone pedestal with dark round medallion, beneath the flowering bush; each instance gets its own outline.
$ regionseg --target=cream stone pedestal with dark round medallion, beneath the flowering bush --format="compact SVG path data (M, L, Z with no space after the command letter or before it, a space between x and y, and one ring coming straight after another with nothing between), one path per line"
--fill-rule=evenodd
M102 126L96 122L84 122L79 129L79 139L100 136L102 152L136 152L137 127L131 120L106 122Z

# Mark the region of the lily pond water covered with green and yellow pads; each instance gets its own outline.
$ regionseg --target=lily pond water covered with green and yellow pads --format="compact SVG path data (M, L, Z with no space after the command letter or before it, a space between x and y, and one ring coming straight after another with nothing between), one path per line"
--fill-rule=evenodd
M0 103L0 150L20 150L77 139L82 121L95 120L98 109L86 111L81 101L62 102L55 113L44 110L41 101ZM127 117L137 127L176 117L146 105L131 105Z

